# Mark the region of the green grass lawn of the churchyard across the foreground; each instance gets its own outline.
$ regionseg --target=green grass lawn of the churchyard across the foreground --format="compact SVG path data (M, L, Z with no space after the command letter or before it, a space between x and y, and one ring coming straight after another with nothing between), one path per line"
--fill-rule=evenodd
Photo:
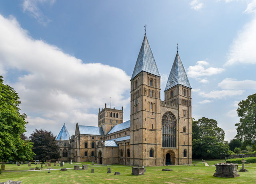
M248 168L249 172L239 172L238 178L217 178L213 177L215 167L202 166L196 160L196 166L158 166L146 167L144 176L133 176L131 166L92 166L94 173L91 174L91 168L88 170L74 170L68 171L52 170L51 173L47 171L31 171L31 172L2 172L0 174L0 182L5 182L9 179L14 181L23 181L22 184L41 184L41 183L255 183L256 181L256 168ZM202 160L201 160L202 162ZM214 163L214 161L211 161ZM217 161L219 162L219 161ZM74 167L77 164L65 164L65 167ZM14 165L16 166L16 165ZM82 164L81 164L82 166ZM13 166L10 166L13 167ZM18 167L18 166L16 166ZM31 166L32 167L32 166ZM107 174L107 168L111 168L111 174ZM9 168L8 166L6 168ZM53 167L55 168L55 167ZM56 166L57 168L57 166ZM162 171L163 168L171 168L173 171ZM21 169L22 170L22 169ZM114 175L114 172L120 172L120 175Z

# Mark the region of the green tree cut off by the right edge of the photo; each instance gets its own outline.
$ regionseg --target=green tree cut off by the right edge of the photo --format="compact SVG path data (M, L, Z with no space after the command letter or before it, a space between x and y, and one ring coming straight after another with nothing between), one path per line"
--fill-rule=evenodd
M240 117L236 123L236 138L243 139L246 145L256 146L256 93L238 104L237 114Z

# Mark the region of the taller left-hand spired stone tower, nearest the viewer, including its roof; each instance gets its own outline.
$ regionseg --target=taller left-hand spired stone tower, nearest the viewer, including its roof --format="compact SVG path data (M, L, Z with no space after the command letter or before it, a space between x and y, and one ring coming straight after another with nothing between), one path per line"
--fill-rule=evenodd
M160 165L160 74L146 33L130 81L131 165ZM154 150L153 157L150 149Z

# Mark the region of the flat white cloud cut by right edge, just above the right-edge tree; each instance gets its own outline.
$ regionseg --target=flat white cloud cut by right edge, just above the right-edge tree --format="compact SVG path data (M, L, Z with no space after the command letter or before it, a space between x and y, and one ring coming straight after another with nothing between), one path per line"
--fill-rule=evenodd
M236 80L234 78L225 78L218 86L228 90L256 90L255 80Z

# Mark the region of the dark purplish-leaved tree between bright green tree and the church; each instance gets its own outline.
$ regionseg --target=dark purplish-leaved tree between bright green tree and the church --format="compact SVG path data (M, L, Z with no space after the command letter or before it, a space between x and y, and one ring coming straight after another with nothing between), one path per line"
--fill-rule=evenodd
M52 132L36 129L36 131L30 135L30 140L34 144L32 151L36 153L34 159L44 161L60 158L56 136L54 137Z

